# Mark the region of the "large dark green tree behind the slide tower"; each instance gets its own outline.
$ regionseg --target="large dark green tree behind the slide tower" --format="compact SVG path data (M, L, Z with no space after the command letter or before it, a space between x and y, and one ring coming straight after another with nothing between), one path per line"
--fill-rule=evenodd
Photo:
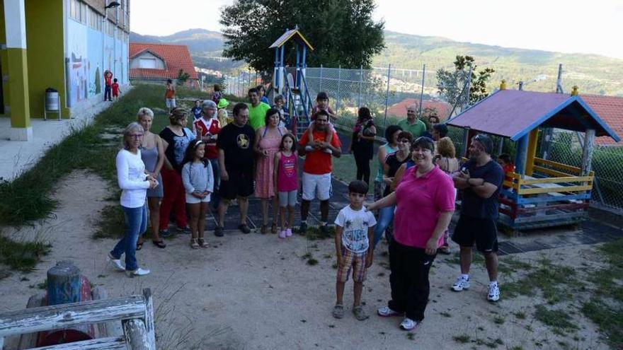
M268 47L286 29L298 26L312 47L309 66L370 68L384 49L384 22L375 22L374 0L237 0L222 8L225 57L244 60L256 71L272 71L275 51ZM294 45L287 61L295 62Z

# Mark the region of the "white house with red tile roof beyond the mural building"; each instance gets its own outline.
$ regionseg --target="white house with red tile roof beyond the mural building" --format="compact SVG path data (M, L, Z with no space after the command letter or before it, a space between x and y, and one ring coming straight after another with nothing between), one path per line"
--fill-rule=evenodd
M144 44L130 42L130 79L164 83L176 81L182 69L190 75L184 84L199 87L199 78L186 45Z

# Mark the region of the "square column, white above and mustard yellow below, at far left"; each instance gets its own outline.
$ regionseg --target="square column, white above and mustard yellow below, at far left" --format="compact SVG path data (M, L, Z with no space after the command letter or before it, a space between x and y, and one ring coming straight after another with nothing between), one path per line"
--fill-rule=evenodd
M28 102L28 64L26 60L26 20L24 0L4 0L6 28L6 66L8 70L11 140L30 141L30 103Z

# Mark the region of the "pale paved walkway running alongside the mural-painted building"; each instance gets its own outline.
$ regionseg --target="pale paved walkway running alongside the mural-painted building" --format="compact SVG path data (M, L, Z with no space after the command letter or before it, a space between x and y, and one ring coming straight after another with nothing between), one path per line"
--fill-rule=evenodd
M72 129L82 129L90 124L93 117L109 105L110 102L101 100L85 104L72 119L58 120L56 114L48 116L47 120L30 119L33 127L31 141L10 141L11 119L0 117L0 177L8 181L18 177L35 165L48 147L58 144Z

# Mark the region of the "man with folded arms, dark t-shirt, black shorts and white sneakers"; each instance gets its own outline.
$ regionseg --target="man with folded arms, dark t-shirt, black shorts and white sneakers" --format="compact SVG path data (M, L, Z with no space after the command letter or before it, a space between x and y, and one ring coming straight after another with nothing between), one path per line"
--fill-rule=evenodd
M462 189L461 216L454 240L461 247L461 276L452 284L453 291L469 289L471 247L483 253L489 276L488 301L500 299L498 287L498 194L504 180L502 167L491 159L493 141L484 134L471 139L469 161L454 177L455 187Z

